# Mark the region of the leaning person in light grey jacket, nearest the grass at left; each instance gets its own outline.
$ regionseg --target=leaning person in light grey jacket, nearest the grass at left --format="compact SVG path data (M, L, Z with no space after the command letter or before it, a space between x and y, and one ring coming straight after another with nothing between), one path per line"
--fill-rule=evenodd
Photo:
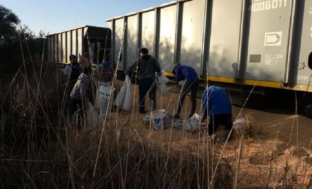
M79 127L81 120L83 121L84 112L88 107L88 88L90 85L90 74L92 74L92 70L90 67L86 67L83 73L78 77L77 82L75 83L71 93L71 108L72 111L75 112L78 110L79 117Z

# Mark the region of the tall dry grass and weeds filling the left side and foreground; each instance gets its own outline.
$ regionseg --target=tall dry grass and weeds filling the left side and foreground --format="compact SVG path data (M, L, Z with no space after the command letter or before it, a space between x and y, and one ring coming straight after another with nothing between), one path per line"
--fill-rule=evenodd
M242 135L210 143L201 132L146 128L134 93L131 111L102 119L100 127L84 119L77 130L61 70L29 57L24 62L16 75L0 78L1 188L312 187L311 145L300 158L296 114L290 132L269 129L274 137L265 138L255 132L262 127L258 114L240 108L246 120ZM176 97L161 96L158 106L174 112ZM184 106L189 109L187 101ZM280 124L273 123L266 126Z

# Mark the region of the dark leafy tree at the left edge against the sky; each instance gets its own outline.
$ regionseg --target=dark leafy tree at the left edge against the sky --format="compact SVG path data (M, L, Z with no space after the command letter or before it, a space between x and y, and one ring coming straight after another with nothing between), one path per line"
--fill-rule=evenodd
M20 23L12 10L0 5L0 74L16 72L24 62L40 59L42 36L36 37Z

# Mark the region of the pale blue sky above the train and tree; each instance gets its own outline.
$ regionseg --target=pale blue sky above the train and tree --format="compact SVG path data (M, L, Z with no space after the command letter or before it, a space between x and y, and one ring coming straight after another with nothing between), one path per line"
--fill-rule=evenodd
M108 27L105 20L158 6L173 0L1 0L38 35L85 25Z

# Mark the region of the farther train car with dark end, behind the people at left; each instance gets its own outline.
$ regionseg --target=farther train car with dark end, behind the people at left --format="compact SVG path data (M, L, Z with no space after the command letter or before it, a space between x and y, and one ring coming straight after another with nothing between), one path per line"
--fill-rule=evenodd
M83 26L46 36L47 59L57 64L69 64L69 55L85 54L92 63L100 64L106 49L111 49L111 30Z

